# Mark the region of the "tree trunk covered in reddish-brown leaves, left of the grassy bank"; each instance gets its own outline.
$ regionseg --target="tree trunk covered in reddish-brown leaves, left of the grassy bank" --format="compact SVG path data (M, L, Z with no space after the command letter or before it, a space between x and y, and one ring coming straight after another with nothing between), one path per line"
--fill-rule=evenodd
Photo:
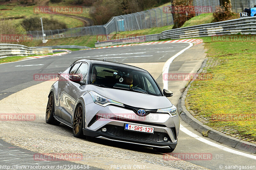
M187 20L196 16L193 0L171 0L171 4L174 23L172 29L180 28Z

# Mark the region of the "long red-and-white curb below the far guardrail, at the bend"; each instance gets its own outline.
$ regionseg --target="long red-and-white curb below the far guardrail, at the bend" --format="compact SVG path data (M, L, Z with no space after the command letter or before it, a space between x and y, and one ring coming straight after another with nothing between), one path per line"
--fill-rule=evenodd
M98 48L88 48L88 49L116 48L116 47L138 46L138 45L152 45L152 44L166 44L166 43L177 43L177 42L191 42L194 45L197 45L197 44L202 43L203 40L202 39L185 39L185 40L155 41L155 42L144 42L144 43L125 44L125 45L98 47ZM80 50L88 50L88 49L80 49Z

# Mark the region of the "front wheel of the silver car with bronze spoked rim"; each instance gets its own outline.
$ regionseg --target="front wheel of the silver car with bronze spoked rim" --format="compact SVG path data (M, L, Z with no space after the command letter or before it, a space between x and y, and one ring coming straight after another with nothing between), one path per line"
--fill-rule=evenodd
M73 135L77 138L86 138L83 133L83 125L84 125L84 111L81 104L76 106L76 110L73 116Z

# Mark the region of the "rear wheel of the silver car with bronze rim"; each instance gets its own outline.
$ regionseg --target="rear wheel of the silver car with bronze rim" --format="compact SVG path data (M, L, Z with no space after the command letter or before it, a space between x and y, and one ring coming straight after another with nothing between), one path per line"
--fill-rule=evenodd
M60 122L57 121L53 117L54 110L55 110L54 109L54 96L53 96L53 93L51 92L49 97L48 97L46 113L45 113L45 122L48 123L48 124L59 125Z

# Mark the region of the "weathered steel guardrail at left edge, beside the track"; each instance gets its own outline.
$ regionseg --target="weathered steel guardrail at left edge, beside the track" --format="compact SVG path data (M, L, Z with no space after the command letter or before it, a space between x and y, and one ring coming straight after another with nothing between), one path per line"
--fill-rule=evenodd
M10 56L28 56L52 53L52 48L27 47L18 44L0 44L0 58Z

